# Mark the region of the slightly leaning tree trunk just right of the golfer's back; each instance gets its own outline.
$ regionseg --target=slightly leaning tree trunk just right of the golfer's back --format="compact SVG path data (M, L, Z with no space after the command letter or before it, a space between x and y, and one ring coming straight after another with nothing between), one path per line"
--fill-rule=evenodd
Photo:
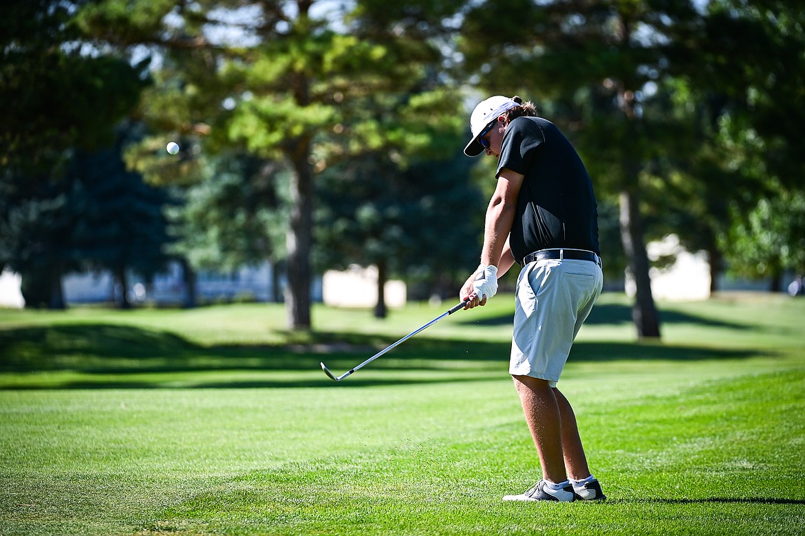
M621 241L636 287L632 320L638 329L638 338L659 338L659 319L654 307L654 297L651 295L649 258L643 239L638 194L624 190L620 201Z

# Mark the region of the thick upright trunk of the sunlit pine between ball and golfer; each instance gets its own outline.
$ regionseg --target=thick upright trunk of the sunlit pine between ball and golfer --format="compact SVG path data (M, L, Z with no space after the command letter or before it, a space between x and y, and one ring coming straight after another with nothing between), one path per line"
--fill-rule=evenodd
M308 156L310 141L295 144L291 154L291 227L286 235L288 286L285 306L290 329L310 329L310 250L313 234L313 174Z

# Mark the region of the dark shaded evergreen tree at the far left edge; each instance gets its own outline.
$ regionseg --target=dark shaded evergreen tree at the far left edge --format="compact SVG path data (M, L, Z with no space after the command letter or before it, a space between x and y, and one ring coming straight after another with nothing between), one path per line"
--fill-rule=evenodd
M75 268L72 149L114 140L147 83L142 66L86 43L74 14L87 3L0 6L0 266L20 273L27 306L64 307L61 276Z

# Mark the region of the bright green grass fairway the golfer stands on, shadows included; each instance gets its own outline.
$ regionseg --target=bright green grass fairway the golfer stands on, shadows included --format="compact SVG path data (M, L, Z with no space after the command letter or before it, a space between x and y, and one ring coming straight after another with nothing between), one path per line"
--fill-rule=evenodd
M316 306L0 310L0 534L803 534L805 299L605 294L559 387L602 504L512 504L539 464L511 297L378 321Z

